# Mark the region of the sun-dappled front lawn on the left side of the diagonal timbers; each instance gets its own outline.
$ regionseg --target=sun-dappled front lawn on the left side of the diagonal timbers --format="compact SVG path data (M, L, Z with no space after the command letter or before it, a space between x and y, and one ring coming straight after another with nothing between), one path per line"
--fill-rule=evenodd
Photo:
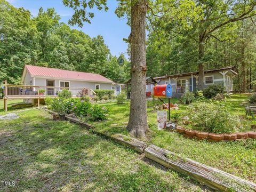
M0 121L0 179L15 181L1 191L209 191L114 141L53 121L43 110L18 114Z

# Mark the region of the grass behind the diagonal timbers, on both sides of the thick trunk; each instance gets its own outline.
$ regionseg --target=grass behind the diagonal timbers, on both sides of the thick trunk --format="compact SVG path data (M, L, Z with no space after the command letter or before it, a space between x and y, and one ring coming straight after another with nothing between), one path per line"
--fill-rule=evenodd
M241 102L247 100L247 94L233 94L227 101L232 105L231 113L241 116L244 124L248 124L245 119L245 109L240 106ZM172 102L179 102L172 99ZM107 106L110 116L106 122L93 123L98 131L106 133L128 134L125 126L129 119L129 101L123 105L115 102L100 104ZM187 105L179 105L181 111L186 110ZM148 101L148 123L149 133L146 142L153 143L159 147L181 154L184 157L195 161L217 167L223 171L235 174L238 177L256 182L256 140L247 139L235 142L209 142L184 138L176 132L156 129L156 112L153 110L152 101ZM249 126L245 130L249 130Z

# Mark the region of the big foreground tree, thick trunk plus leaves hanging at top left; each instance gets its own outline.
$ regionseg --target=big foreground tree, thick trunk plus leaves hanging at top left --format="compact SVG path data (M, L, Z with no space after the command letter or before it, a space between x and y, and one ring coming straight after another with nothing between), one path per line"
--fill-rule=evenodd
M90 22L94 14L87 9L97 7L99 10L108 9L106 0L63 0L66 6L74 9L69 23L83 26L83 22ZM119 5L130 10L131 34L128 38L131 44L131 107L127 129L135 137L145 137L148 130L147 101L146 101L146 14L147 0L120 1Z

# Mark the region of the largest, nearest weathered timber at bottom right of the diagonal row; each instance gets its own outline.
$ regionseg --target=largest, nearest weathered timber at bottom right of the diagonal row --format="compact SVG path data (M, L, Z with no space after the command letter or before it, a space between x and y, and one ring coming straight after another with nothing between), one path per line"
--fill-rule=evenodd
M161 165L190 175L193 179L215 190L256 191L256 184L251 181L238 178L235 175L195 162L189 158L182 158L155 145L147 147L145 155Z

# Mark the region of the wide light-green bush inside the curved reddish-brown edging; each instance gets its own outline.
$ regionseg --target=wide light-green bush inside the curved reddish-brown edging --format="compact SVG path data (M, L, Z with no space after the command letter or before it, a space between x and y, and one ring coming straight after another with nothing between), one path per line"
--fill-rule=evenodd
M238 116L221 101L195 102L188 106L187 116L196 129L213 133L230 133L242 128Z

